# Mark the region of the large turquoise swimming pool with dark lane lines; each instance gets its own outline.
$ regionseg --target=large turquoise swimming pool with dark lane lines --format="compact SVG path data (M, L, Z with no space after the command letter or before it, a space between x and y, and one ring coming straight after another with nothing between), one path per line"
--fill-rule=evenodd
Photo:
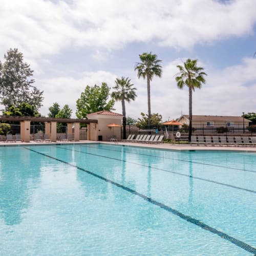
M253 255L256 154L0 147L0 254Z

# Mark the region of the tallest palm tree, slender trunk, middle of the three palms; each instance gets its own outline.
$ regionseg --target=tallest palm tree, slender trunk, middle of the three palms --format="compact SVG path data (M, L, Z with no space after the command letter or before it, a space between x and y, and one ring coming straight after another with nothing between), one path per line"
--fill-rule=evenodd
M142 53L139 55L141 62L137 62L135 70L138 71L138 78L141 76L147 82L147 109L148 109L148 129L151 129L151 103L150 103L150 81L154 75L161 77L162 67L159 64L162 60L157 59L156 54Z

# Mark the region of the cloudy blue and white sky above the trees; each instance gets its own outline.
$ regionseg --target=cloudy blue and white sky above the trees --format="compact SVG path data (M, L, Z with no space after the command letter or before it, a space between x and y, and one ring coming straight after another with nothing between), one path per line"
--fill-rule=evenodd
M126 116L141 117L146 80L134 67L144 52L162 60L162 77L151 82L151 112L163 121L188 114L188 89L175 81L187 58L207 74L193 93L194 115L256 112L256 0L0 0L0 6L0 60L10 48L23 53L44 91L42 115L57 102L75 117L87 85L112 88L124 76L137 88ZM114 108L122 113L121 102Z

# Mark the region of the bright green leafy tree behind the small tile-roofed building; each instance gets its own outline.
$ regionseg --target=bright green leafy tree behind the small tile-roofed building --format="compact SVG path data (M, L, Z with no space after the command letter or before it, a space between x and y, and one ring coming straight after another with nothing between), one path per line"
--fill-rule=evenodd
M115 100L108 101L109 96L110 88L105 82L102 82L101 87L96 84L93 87L87 86L76 101L77 118L86 118L87 114L102 110L115 110L113 108Z

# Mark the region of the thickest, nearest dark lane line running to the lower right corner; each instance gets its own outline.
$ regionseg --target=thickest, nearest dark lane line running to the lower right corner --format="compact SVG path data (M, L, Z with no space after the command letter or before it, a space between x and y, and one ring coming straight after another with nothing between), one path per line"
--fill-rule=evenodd
M205 223L202 222L202 221L199 221L199 220L197 220L197 219L194 219L194 218L192 218L192 217L190 217L190 216L188 216L188 215L184 215L184 214L182 214L182 212L180 212L180 211L178 211L178 210L176 210L176 209L173 209L173 208L171 208L171 207L169 207L169 206L167 206L167 205L165 205L165 204L162 204L162 203L160 203L160 202L158 202L158 201L156 201L156 200L154 200L154 199L152 199L152 198L150 198L150 197L147 197L147 196L145 196L145 195L143 195L143 194L140 194L140 193L138 193L138 192L137 192L136 190L134 190L134 189L131 189L131 188L129 188L129 187L125 187L125 186L123 186L123 185L121 185L121 184L119 184L119 183L117 183L117 182L115 182L115 181L106 179L106 178L104 178L104 177L102 177L102 176L100 176L100 175L97 175L97 174L95 174L95 173L90 172L90 170L83 169L83 168L81 168L81 167L79 167L79 166L77 166L77 165L75 165L75 164L71 164L71 163L69 163L69 162L60 160L60 159L58 159L58 158L55 158L55 157L46 155L46 154L44 154L44 153L37 152L37 151L32 150L31 148L28 148L28 147L24 147L24 148L26 148L26 150L32 151L32 152L34 152L34 153L37 153L37 154L39 154L39 155L42 155L42 156L45 156L45 157L49 157L49 158L54 159L54 160L56 160L56 161L59 161L59 162L61 162L61 163L68 164L68 165L70 165L70 166L72 166L72 167L75 167L75 168L77 168L77 169L79 169L79 170L82 170L83 172L85 172L85 173L87 173L87 174L90 174L90 175L92 175L92 176L94 176L94 177L96 177L96 178L99 178L99 179L101 179L101 180L103 180L103 181L105 181L105 182L109 182L109 183L111 183L111 184L113 184L113 185L115 185L115 186L117 186L117 187L120 187L120 188L122 188L122 189L124 189L124 190L126 190L126 191L128 191L128 192L130 192L130 193L132 193L132 194L134 194L134 195L136 195L136 196L138 196L138 197L144 199L144 200L147 201L147 202L150 202L150 203L152 203L152 204L154 204L154 205L156 205L156 206L161 207L162 209L164 209L164 210L166 210L166 211L171 212L172 214L174 214L174 215L180 217L180 218L183 219L183 220L186 220L187 222L193 223L193 224L195 224L195 225L197 225L197 226L199 226L199 227L201 227L201 228L203 228L203 229L205 229L205 230L207 230L207 231L210 231L211 233L217 234L219 237L221 237L221 238L223 238L223 239L225 239L225 240L227 240L227 241L229 241L229 242L231 242L231 243L237 245L238 247L240 247L240 248L242 248L242 249L244 249L244 250L246 250L246 251L248 251L248 252L251 252L251 253L254 253L254 254L256 253L256 248L254 248L254 247L252 247L252 246L250 246L250 245L248 245L248 244L246 244L246 243L244 243L244 242L242 242L242 241L240 241L240 240L238 240L238 239L236 239L236 238L230 237L228 234L226 234L226 233L224 233L224 232L222 232L222 231L220 231L220 230L218 230L218 229L215 229L215 228L213 228L213 227L210 227L210 226L208 226L207 224L205 224Z

